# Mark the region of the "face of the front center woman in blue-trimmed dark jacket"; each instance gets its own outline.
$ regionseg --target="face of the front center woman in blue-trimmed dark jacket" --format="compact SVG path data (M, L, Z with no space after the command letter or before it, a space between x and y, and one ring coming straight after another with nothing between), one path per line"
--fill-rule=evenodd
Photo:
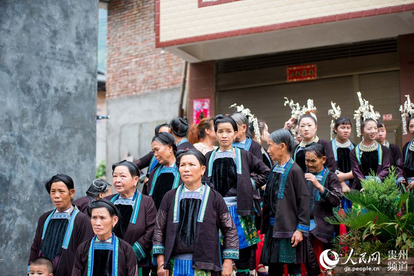
M201 166L197 157L192 154L187 154L181 157L180 165L178 167L181 179L185 184L201 183L201 178L204 175L206 166Z

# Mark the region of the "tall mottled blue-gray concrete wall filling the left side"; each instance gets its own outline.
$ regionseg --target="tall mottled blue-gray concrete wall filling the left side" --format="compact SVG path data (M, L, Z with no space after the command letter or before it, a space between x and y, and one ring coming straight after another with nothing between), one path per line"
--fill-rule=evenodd
M26 275L44 181L94 179L98 1L0 1L0 275Z

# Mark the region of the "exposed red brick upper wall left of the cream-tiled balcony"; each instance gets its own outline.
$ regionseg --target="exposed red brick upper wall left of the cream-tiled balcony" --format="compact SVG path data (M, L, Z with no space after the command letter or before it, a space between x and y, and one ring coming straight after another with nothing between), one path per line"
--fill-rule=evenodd
M181 85L184 61L155 48L154 9L154 0L109 2L107 98Z

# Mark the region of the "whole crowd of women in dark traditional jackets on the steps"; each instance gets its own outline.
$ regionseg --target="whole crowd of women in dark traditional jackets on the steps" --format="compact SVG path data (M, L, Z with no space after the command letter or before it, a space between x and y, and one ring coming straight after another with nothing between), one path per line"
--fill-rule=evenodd
M357 145L334 103L332 141L317 136L312 100L286 101L292 117L270 134L233 105L191 127L185 117L157 126L151 152L113 164L112 185L96 179L75 201L72 178L52 176L45 187L55 208L38 220L28 274L265 276L286 265L292 276L320 275L319 255L339 234L324 218L352 208L344 193L360 190L361 179L380 183L391 166L398 183L414 187L414 139L401 153L358 97ZM414 136L409 97L400 111Z

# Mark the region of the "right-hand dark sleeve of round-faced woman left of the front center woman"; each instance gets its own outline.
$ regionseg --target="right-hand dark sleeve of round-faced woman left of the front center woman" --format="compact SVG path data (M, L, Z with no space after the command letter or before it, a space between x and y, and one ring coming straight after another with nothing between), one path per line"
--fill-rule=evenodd
M139 261L151 253L152 235L154 234L155 221L157 218L157 209L155 208L153 200L150 197L146 198L147 204L145 206L145 226L147 231L141 238L136 241L144 252L144 255L139 258ZM136 243L134 243L134 245L135 244Z

